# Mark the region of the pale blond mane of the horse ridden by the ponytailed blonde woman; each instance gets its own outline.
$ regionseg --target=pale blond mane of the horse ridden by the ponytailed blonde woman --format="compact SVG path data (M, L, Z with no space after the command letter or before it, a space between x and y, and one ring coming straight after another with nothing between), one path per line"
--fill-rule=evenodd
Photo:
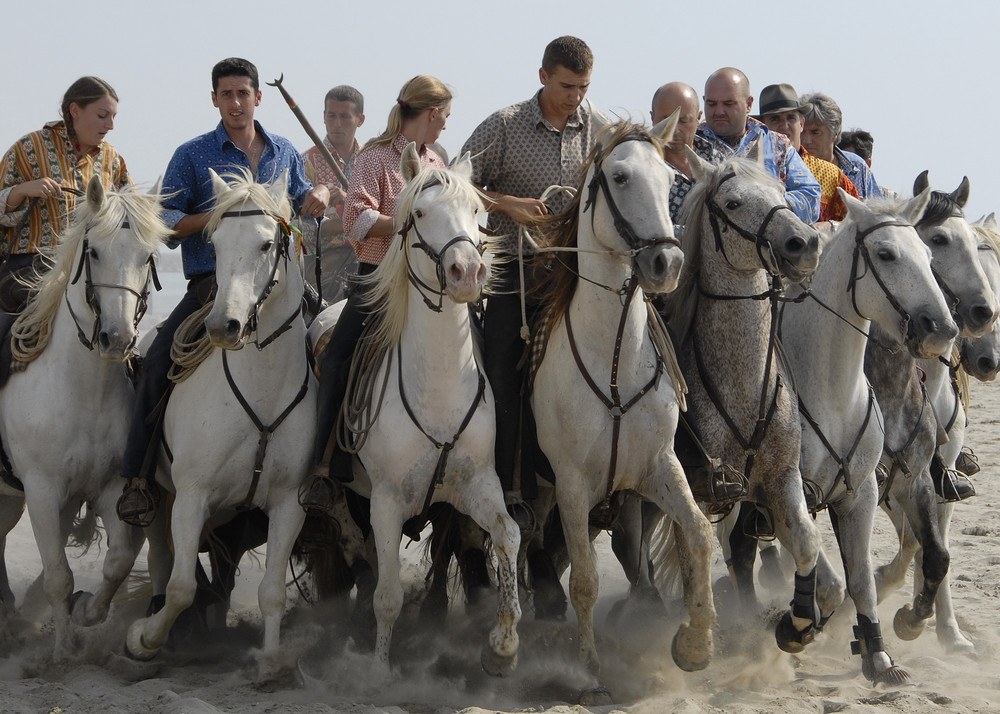
M484 209L482 193L462 174L451 168L425 166L407 182L396 204L395 225L406 225L414 205L424 190L440 186L439 200L467 202ZM398 235L398 234L397 234ZM395 238L395 236L394 236ZM390 247L379 266L361 281L368 286L364 303L378 315L373 339L378 344L394 347L399 343L409 309L410 280L407 276L406 241L400 236L398 246Z

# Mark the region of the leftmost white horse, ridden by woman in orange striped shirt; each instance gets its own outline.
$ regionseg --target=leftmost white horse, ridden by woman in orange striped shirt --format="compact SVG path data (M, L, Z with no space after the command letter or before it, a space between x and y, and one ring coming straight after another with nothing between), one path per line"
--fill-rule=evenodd
M102 621L143 542L141 530L118 520L115 503L134 400L125 362L155 282L157 248L170 233L157 190L106 193L92 179L12 330L15 360L27 368L0 389L0 431L24 484L57 659L73 647L71 610L75 623ZM3 500L20 511L14 499ZM71 607L65 546L84 502L104 522L108 552L98 592L78 594ZM16 520L3 519L4 535Z

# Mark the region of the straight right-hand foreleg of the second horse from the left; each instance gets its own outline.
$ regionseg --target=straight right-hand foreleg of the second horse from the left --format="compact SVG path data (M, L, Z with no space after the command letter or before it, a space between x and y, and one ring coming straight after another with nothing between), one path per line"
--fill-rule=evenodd
M276 507L268 510L267 516L267 558L257 588L257 602L264 619L263 654L273 657L278 653L281 618L285 614L285 572L306 513L299 505L297 491L290 491Z

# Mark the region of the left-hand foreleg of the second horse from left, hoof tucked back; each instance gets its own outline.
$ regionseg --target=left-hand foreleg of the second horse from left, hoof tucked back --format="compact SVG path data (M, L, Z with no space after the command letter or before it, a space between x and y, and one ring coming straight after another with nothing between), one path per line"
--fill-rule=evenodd
M177 494L170 518L174 544L174 566L167 584L163 608L136 620L128 628L125 648L136 659L152 659L167 643L177 616L194 602L195 566L201 531L208 518L208 505L201 493Z

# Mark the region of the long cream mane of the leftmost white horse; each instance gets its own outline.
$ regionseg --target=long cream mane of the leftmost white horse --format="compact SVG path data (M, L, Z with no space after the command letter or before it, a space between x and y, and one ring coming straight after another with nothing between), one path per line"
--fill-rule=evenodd
M132 235L151 251L163 245L173 231L163 222L161 196L140 193L133 188L107 191L104 203L95 214L90 202L83 200L73 211L73 218L58 244L43 253L46 269L29 279L29 299L24 311L17 318L14 332L25 351L25 357L34 359L47 343L39 337L50 332L52 321L59 311L66 286L73 278L77 249L89 234L91 240L114 240L118 229L128 218L133 226ZM109 243L109 246L112 243ZM33 348L32 345L37 345Z

